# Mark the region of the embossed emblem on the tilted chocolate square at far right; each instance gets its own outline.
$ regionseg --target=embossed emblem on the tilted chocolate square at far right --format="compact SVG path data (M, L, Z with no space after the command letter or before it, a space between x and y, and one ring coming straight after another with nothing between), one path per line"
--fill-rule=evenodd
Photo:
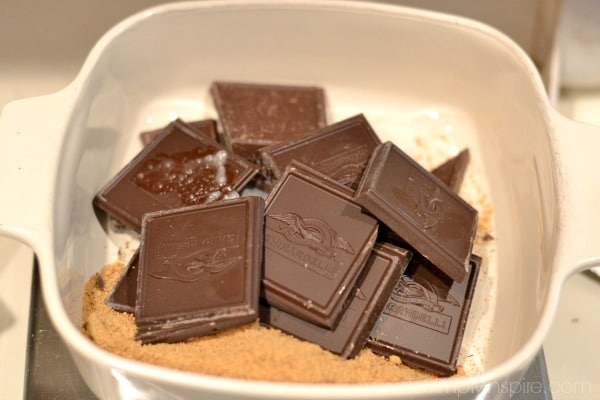
M403 204L412 204L417 222L425 230L435 228L444 216L444 202L439 187L420 186L413 178L408 179L414 187L392 188L394 196ZM408 208L407 208L408 209Z

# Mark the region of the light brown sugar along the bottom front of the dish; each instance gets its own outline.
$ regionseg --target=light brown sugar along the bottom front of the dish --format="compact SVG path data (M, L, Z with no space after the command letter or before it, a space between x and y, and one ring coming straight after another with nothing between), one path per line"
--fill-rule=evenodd
M187 342L143 345L134 339L133 315L104 303L123 268L121 263L109 264L90 277L83 303L84 333L119 356L189 372L263 381L382 383L436 378L403 365L397 357L385 358L368 349L347 360L258 322Z

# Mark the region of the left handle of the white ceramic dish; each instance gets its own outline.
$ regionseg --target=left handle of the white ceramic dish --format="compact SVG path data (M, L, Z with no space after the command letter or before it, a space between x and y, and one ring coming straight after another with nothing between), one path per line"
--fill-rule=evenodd
M60 159L65 92L17 100L0 114L0 235L38 253L50 243L54 171ZM65 106L63 108L63 106Z

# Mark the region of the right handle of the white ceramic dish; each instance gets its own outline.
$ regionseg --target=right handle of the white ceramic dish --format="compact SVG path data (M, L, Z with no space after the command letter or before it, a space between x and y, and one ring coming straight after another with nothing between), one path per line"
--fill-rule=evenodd
M561 281L600 266L600 126L552 116L558 160Z

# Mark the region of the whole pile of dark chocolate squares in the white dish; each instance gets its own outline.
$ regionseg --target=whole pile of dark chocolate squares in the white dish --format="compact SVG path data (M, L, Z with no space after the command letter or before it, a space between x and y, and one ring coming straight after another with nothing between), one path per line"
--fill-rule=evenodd
M362 114L327 125L318 87L210 93L218 121L143 133L94 198L140 235L107 300L134 313L136 338L259 319L345 358L368 346L455 373L481 265L477 211L457 194L468 151L426 171Z

